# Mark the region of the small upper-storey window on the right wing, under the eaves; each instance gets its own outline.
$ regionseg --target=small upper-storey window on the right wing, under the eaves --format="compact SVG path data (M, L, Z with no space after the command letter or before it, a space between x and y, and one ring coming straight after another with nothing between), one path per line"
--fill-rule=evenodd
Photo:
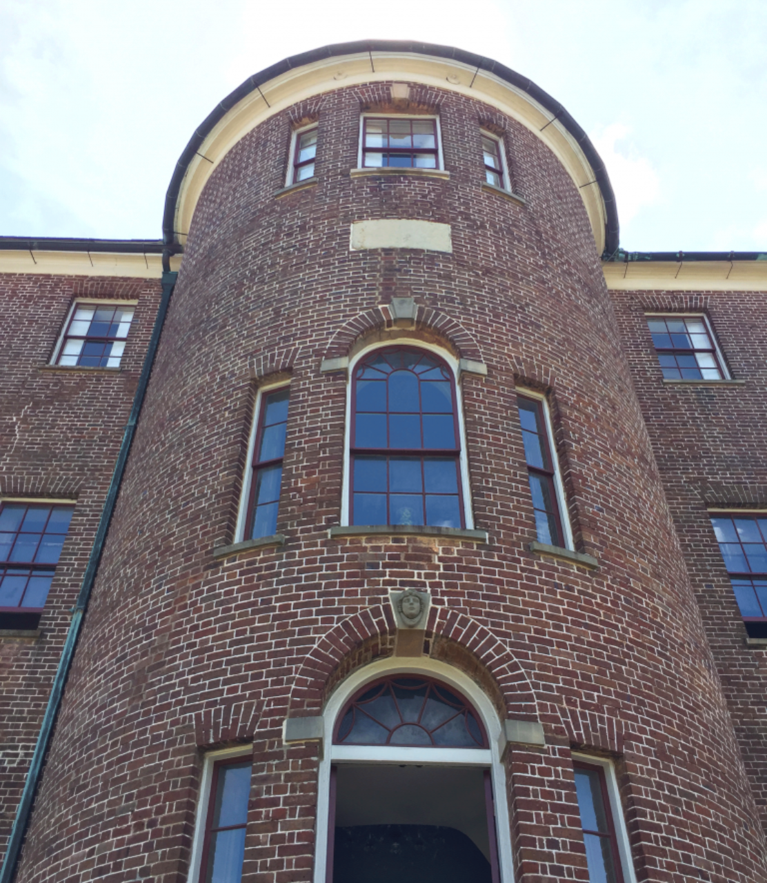
M708 317L646 314L664 380L729 380Z

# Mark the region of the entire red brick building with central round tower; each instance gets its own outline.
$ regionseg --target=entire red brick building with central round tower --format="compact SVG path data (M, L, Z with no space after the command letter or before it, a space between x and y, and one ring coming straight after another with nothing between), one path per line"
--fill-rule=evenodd
M163 233L0 240L3 883L767 880L765 256L387 42Z

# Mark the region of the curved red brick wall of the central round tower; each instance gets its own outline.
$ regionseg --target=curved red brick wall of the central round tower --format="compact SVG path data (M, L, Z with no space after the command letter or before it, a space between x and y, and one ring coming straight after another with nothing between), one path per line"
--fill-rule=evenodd
M19 883L170 883L189 871L201 751L252 739L245 879L308 881L317 749L282 744L335 672L390 653L387 592L432 592L433 652L543 721L511 751L517 880L586 879L572 747L612 753L640 880L765 879L763 834L673 532L583 202L536 136L414 86L439 109L450 180L350 179L361 108L317 113L316 186L281 199L290 113L250 132L199 201ZM479 123L507 127L525 207L483 192ZM454 253L349 250L350 223L451 223ZM341 510L346 385L320 373L340 329L392 296L477 342L462 381L474 517L491 540L329 540ZM372 333L372 332L371 332ZM386 339L385 332L379 332ZM423 323L414 336L434 336ZM451 344L446 343L449 347ZM292 377L277 529L224 561L252 420L252 366ZM551 389L579 548L532 555L515 384ZM369 567L379 564L379 567Z

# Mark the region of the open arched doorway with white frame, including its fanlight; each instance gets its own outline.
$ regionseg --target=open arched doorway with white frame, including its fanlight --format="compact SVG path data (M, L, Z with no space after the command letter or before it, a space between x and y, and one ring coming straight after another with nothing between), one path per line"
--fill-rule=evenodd
M511 883L500 721L476 685L429 660L380 660L325 713L315 883Z

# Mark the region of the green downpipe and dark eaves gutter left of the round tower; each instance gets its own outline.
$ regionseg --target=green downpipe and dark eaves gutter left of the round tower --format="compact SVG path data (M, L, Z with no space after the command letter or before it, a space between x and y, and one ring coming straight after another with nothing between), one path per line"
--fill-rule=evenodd
M2 240L0 240L0 249L2 249L3 247L18 247L18 245L4 246L4 243L7 242L9 239L11 239L11 237L4 237L2 238ZM30 240L23 241L28 242ZM42 243L50 242L51 240L40 239L36 241ZM103 239L67 239L54 241L60 243L77 242L79 244L90 241L109 243L110 246L119 244L119 241L117 240ZM133 240L133 242L135 241L136 240ZM130 453L131 445L133 442L133 435L136 433L136 425L139 422L141 408L144 404L144 398L147 394L149 377L152 374L154 357L157 353L157 348L160 343L162 326L165 322L165 316L168 313L170 296L173 294L173 289L176 285L178 274L170 272L170 255L171 253L174 253L174 249L169 248L168 246L163 247L162 243L156 243L156 241L155 245L160 245L158 251L162 252L162 299L160 301L160 307L157 310L157 316L154 320L154 328L152 330L152 337L147 348L147 356L146 358L144 358L144 365L141 368L139 386L136 389L136 395L133 396L131 416L128 418L128 422L125 425L123 442L120 445L120 451L117 455L115 470L114 472L112 472L112 480L109 484L109 492L107 493L107 498L104 501L102 517L99 521L99 526L96 531L94 546L91 549L91 554L88 559L86 573L83 577L82 585L80 586L77 603L75 604L75 607L72 608L72 618L69 632L67 634L66 641L64 642L64 650L62 651L61 659L58 662L58 668L56 669L56 675L54 676L53 685L50 691L48 706L45 709L45 716L42 719L42 726L40 729L40 734L37 738L37 744L34 747L34 754L32 756L32 762L29 766L29 772L26 775L26 782L24 784L24 791L22 792L21 800L19 802L19 809L16 812L16 818L13 820L11 837L8 841L8 849L5 853L5 861L2 870L0 870L0 883L12 883L12 880L16 875L16 869L19 864L19 857L21 855L21 848L26 837L26 829L29 826L29 820L32 816L34 797L40 785L42 771L45 766L45 760L48 755L51 738L53 736L54 728L56 727L56 718L58 717L59 710L61 709L62 699L64 698L64 688L66 687L71 664L74 660L74 653L77 647L79 633L80 630L82 630L88 601L90 600L91 592L93 591L94 581L99 568L99 563L102 560L104 542L107 539L107 532L109 531L109 522L112 520L112 515L115 511L115 505L117 504L117 494L119 494L120 484L123 480L125 465L127 464L128 454ZM84 249L80 246L78 248L60 248L57 250L83 251ZM95 249L92 250L94 251ZM106 251L108 249L103 250ZM125 250L127 251L128 249Z

